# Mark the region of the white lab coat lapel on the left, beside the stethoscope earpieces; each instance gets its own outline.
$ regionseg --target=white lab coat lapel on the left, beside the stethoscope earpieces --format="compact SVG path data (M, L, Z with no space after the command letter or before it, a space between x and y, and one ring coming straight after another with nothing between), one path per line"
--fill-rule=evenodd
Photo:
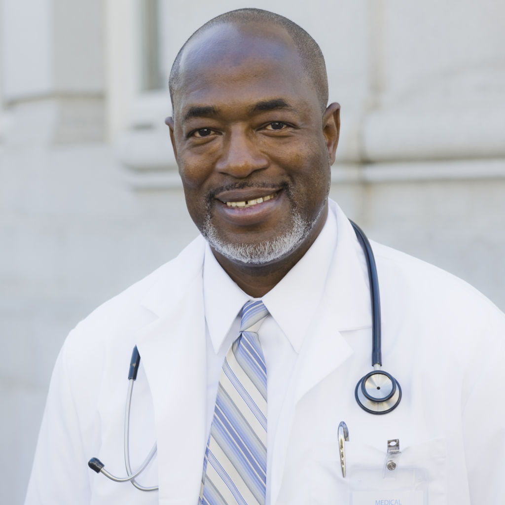
M188 497L196 503L201 480L207 436L206 330L204 242L196 242L144 300L159 318L137 339L154 402L160 503L187 502Z

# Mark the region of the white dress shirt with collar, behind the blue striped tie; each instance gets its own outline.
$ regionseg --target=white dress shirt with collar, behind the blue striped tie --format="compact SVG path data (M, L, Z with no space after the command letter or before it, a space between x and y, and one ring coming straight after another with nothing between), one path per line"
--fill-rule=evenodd
M267 505L270 469L279 413L292 371L323 294L337 244L337 223L329 213L305 256L265 296L270 312L258 331L267 366ZM207 431L210 431L222 365L238 337L240 310L251 298L221 268L207 245L204 261L207 331Z

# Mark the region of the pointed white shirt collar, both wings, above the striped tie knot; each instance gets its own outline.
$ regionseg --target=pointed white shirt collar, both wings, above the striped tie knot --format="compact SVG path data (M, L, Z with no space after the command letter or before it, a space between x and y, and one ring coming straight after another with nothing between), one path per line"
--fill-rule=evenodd
M304 257L262 297L296 352L301 347L323 295L336 243L336 218L329 212L321 233ZM222 269L209 244L206 244L205 249L203 276L205 318L217 354L237 314L251 297Z

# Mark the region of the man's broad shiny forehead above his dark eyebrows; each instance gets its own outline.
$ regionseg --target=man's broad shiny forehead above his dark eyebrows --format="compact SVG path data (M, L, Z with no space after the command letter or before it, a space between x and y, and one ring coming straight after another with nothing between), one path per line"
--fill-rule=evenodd
M217 25L198 34L180 61L174 113L226 95L256 100L286 96L317 103L290 35L272 24Z

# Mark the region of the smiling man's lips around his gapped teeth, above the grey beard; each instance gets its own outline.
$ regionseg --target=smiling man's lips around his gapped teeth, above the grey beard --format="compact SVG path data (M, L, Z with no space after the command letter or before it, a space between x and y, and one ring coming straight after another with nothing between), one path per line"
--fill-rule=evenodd
M250 207L229 207L226 202L248 201L274 194L273 198ZM254 226L275 218L278 210L285 203L282 189L247 188L243 190L223 191L216 196L216 211L228 223L236 226Z

